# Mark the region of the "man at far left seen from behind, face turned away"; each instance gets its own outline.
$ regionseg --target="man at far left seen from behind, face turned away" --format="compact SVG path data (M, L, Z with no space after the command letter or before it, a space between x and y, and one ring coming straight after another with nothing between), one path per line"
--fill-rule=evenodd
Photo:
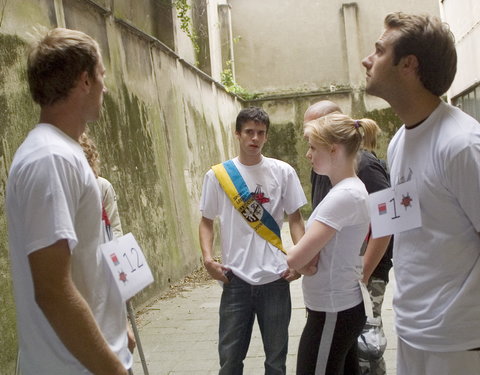
M57 28L32 48L40 121L7 182L9 245L23 375L125 375L126 309L98 253L101 202L81 146L106 91L97 42Z

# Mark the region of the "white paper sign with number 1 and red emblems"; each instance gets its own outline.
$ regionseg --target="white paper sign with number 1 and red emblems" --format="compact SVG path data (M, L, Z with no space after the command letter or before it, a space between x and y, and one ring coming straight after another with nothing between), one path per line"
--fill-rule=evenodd
M369 196L372 237L378 238L422 225L420 202L414 181Z

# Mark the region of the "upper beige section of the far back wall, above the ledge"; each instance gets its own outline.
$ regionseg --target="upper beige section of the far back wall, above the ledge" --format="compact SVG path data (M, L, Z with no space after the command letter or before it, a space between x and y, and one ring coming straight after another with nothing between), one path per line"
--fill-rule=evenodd
M452 0L452 2L454 2ZM472 0L472 2L475 2ZM236 78L252 93L349 89L354 112L386 107L363 98L361 59L392 11L439 15L438 0L232 1ZM248 20L248 21L247 21Z

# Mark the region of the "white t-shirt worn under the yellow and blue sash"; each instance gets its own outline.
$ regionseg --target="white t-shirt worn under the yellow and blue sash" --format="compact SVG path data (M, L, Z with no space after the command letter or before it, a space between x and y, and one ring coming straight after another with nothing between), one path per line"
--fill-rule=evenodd
M302 207L307 199L295 170L287 163L262 157L247 166L233 159L249 190L263 194L263 207L281 228L285 213ZM268 202L267 202L268 200ZM286 256L260 237L233 207L212 170L205 175L200 211L207 219L220 219L222 263L244 281L261 285L280 278L288 266Z

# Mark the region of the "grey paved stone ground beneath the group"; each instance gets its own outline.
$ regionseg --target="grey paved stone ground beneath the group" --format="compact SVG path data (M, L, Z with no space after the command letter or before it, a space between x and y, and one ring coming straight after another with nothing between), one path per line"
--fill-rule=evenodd
M284 228L283 238L290 238ZM285 240L284 240L285 242ZM287 248L289 244L286 244ZM393 275L392 275L393 276ZM390 284L383 306L383 320L388 339L385 353L387 375L395 375L396 337L393 331ZM290 323L287 373L295 373L296 353L305 324L301 280L291 284L292 319ZM221 287L215 281L187 283L168 298L162 298L138 314L138 327L150 375L218 374L218 307ZM245 360L245 375L262 375L264 353L258 325ZM138 353L133 367L142 375Z

